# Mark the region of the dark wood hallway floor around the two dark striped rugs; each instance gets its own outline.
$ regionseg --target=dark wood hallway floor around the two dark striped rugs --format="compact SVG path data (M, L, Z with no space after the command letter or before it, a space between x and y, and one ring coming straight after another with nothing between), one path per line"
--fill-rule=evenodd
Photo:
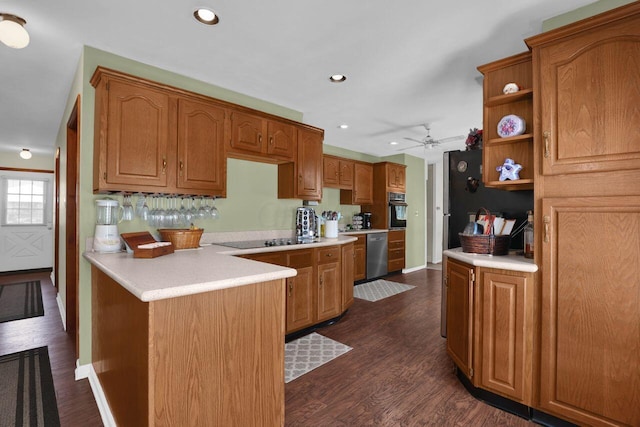
M62 326L49 273L0 275L0 283L40 280L44 316L0 323L0 355L48 346L62 427L102 426L87 379L75 381L75 350Z

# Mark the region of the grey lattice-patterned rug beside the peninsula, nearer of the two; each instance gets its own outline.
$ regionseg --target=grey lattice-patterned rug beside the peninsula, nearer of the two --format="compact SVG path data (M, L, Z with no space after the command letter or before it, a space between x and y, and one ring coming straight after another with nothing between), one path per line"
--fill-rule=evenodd
M284 382L288 383L353 350L348 345L311 333L284 346Z

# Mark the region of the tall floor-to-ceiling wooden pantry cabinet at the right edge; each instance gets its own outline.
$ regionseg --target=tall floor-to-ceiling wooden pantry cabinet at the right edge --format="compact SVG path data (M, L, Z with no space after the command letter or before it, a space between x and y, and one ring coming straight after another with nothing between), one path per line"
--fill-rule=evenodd
M640 425L640 2L526 40L533 53L536 407Z

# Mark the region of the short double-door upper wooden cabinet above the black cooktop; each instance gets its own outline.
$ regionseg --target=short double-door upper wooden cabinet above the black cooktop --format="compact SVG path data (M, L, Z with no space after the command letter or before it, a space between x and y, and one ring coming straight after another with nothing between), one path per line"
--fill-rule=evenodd
M227 155L259 161L294 161L296 127L284 121L234 111Z

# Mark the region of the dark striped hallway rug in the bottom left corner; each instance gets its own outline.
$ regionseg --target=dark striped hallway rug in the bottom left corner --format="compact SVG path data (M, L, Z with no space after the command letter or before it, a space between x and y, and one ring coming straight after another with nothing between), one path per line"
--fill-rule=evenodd
M60 426L47 347L0 356L0 426Z

